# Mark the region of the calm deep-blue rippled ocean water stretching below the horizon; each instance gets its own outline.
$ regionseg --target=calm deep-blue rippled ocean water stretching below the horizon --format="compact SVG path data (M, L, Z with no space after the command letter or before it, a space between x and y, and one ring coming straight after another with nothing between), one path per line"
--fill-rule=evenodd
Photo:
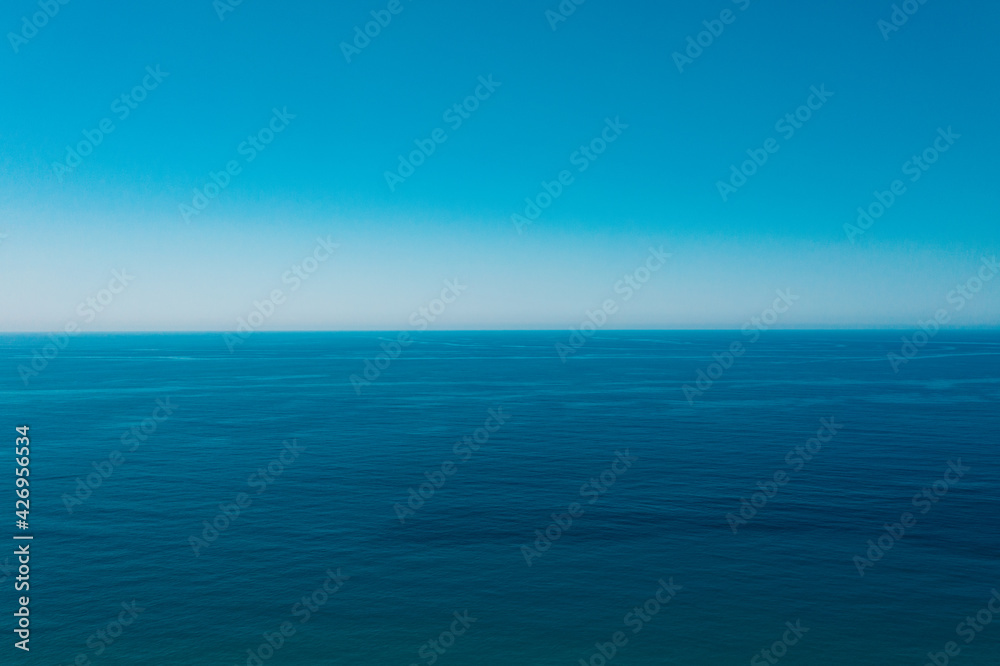
M1000 336L902 335L3 337L0 661L998 664Z

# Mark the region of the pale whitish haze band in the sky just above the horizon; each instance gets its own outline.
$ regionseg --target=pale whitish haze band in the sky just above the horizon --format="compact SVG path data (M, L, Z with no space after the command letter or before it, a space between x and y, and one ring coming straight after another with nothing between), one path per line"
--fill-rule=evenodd
M742 327L796 297L773 328L910 328L946 309L951 327L1000 325L996 254L970 247L554 229L518 237L504 225L359 232L351 222L294 232L251 224L183 233L124 223L95 232L40 222L0 245L2 330L232 330L281 292L260 330L420 330L449 281L459 293L432 330L569 329L609 299L612 329ZM61 230L60 230L61 229ZM58 234L59 244L49 242ZM80 252L79 248L89 248ZM650 271L651 252L669 255ZM134 279L96 306L115 271ZM81 304L84 304L81 309ZM89 313L89 314L81 314Z

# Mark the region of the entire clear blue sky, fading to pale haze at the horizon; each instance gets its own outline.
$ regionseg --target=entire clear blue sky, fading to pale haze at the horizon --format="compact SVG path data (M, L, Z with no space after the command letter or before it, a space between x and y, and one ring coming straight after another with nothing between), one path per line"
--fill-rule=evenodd
M0 9L0 330L1000 325L996 3L231 2Z

